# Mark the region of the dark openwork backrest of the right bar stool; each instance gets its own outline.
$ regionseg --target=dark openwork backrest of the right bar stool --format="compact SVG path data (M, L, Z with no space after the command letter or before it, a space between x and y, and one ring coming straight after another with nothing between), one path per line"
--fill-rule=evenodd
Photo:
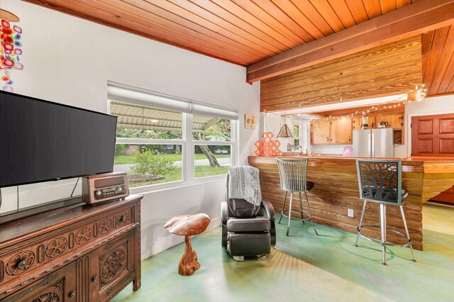
M401 160L356 160L360 198L402 205Z

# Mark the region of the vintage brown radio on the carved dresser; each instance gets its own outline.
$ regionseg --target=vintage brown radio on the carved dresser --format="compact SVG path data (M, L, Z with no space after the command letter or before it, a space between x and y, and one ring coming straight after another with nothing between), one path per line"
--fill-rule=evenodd
M106 173L82 177L82 201L100 203L129 195L128 174Z

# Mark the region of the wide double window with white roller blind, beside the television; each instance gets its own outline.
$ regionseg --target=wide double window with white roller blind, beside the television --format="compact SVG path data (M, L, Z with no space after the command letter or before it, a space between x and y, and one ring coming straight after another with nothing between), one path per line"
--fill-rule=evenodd
M177 186L226 174L238 112L154 91L109 85L117 116L114 172L129 186Z

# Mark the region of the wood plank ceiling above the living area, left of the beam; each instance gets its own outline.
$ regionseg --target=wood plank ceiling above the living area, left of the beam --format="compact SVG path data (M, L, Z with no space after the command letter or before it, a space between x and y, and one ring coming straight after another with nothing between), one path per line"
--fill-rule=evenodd
M26 0L248 66L416 0Z

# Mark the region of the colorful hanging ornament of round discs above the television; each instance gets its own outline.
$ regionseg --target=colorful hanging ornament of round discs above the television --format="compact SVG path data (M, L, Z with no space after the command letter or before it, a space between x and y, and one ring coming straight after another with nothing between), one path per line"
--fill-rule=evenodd
M22 28L12 26L10 22L18 22L18 16L0 9L0 79L4 84L4 91L13 92L13 80L11 79L11 69L22 70L20 62Z

